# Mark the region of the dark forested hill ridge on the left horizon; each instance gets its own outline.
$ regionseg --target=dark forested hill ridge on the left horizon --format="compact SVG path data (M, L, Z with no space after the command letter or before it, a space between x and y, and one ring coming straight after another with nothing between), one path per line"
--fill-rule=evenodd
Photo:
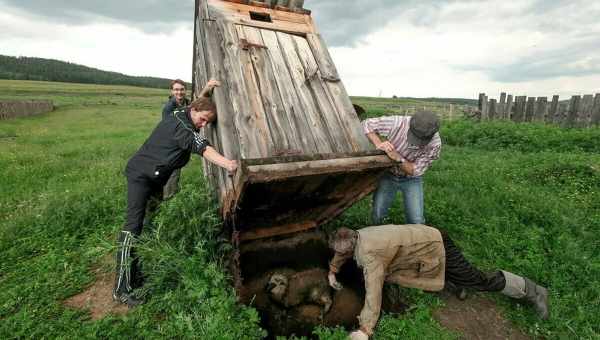
M135 77L54 59L0 55L0 79L168 88L170 80Z

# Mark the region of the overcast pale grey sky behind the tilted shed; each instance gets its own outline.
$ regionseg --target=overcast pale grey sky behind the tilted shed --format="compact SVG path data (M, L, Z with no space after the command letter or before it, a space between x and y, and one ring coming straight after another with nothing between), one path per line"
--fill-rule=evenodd
M0 0L0 54L191 80L194 0ZM598 0L307 0L351 95L600 92Z

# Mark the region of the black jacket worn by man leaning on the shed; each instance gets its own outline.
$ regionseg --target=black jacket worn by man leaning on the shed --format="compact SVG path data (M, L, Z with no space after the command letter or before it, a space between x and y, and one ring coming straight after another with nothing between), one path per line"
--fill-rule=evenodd
M202 155L209 145L192 123L190 110L176 110L158 123L144 145L129 159L125 175L164 184L173 170L189 162L191 153Z

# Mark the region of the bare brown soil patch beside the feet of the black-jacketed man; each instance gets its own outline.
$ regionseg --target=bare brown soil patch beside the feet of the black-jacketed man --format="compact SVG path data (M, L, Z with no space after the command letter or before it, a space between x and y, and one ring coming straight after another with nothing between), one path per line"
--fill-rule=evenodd
M109 260L112 260L112 257ZM115 273L107 271L105 268L98 268L94 272L96 281L83 292L66 299L63 304L71 308L89 310L93 321L102 319L109 314L126 314L127 306L112 300Z

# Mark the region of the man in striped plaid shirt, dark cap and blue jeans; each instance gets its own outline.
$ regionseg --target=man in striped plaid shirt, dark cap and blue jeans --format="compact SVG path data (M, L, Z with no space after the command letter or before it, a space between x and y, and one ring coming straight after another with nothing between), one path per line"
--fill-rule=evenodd
M363 130L379 150L400 155L400 164L383 175L373 195L373 223L381 224L398 191L404 198L407 224L425 224L421 176L442 149L440 120L430 111L414 116L386 116L363 122ZM386 137L382 141L380 137Z

